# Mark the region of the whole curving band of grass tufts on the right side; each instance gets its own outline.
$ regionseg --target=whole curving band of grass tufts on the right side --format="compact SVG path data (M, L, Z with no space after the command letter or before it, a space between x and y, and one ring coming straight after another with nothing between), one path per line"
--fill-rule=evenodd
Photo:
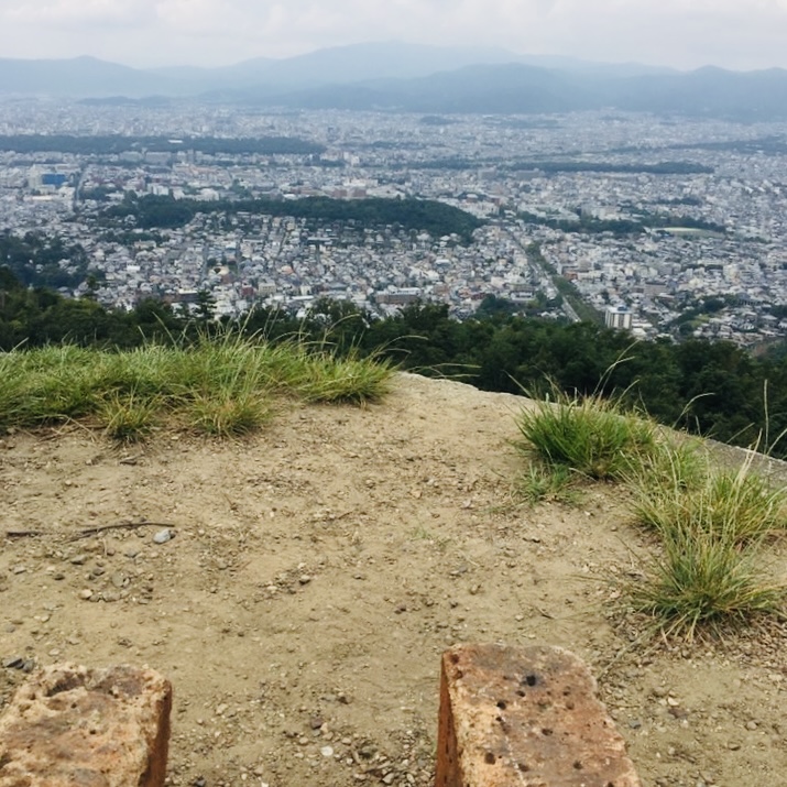
M752 470L714 467L699 440L658 428L621 400L558 393L517 419L523 447L535 455L522 482L532 501L557 500L571 479L620 481L634 516L660 539L645 579L632 582L633 609L654 631L692 640L766 615L783 615L787 587L764 566L764 544L787 529L787 489Z

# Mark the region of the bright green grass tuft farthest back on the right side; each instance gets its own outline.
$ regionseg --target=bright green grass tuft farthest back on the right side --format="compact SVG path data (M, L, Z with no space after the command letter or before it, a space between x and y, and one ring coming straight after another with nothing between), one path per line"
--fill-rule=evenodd
M620 401L559 392L554 398L535 402L517 420L524 447L545 464L592 479L621 479L633 461L654 450L655 423L626 412Z

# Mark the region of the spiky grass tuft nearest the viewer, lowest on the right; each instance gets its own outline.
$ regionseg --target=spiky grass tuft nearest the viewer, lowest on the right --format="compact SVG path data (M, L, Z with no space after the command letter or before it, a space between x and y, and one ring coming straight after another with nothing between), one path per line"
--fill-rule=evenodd
M735 533L687 525L664 538L664 554L631 588L634 609L667 635L693 640L779 614L787 588L763 576L759 544L741 548Z

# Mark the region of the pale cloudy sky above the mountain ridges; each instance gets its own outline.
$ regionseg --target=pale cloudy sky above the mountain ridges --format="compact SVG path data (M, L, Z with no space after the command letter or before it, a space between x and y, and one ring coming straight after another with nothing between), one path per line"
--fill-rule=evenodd
M392 40L787 68L787 0L0 0L0 57L216 66Z

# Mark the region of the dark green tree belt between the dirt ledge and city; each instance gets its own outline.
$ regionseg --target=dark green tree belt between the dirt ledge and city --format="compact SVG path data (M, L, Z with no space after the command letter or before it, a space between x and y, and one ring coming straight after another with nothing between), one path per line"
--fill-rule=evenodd
M112 311L89 297L65 299L29 288L0 266L0 351L53 342L128 349L173 337L194 340L200 331L223 327L212 321L209 294L201 296L190 317L156 300L130 313ZM348 304L324 300L306 320L261 308L239 326L269 337L297 334L340 353L378 353L403 369L453 376L487 391L538 394L554 383L568 392L625 392L632 406L668 426L734 445L759 440L759 450L787 429L784 345L755 358L731 342L633 343L626 334L590 323L504 314L458 323L447 306L436 304L414 304L379 320ZM773 452L787 458L785 440Z

